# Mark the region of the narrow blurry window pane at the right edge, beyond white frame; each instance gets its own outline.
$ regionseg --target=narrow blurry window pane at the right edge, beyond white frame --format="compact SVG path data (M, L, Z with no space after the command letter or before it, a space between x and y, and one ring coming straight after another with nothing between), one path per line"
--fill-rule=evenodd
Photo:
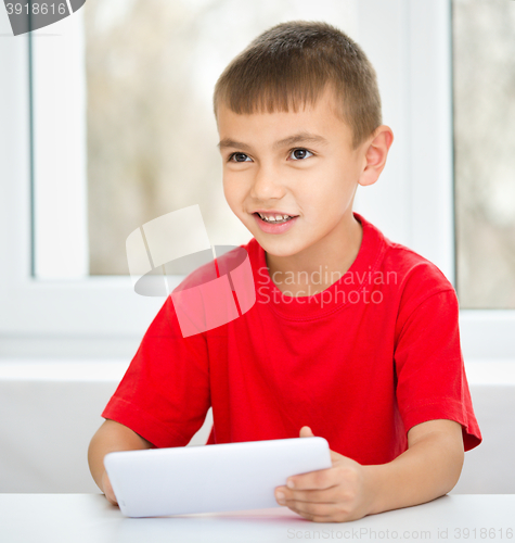
M460 304L515 308L515 2L452 9Z

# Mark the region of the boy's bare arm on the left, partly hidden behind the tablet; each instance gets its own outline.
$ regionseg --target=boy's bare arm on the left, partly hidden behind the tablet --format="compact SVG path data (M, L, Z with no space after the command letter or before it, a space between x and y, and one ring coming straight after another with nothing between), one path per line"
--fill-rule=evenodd
M137 451L151 449L150 441L115 420L105 420L91 439L88 449L88 463L91 475L105 497L116 505L116 496L104 468L104 456L115 451Z

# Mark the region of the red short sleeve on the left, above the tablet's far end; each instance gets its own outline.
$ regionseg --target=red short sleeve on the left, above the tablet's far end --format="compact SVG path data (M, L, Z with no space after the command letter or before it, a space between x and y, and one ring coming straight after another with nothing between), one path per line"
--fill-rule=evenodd
M182 337L168 296L102 412L156 447L186 445L210 405L205 334Z

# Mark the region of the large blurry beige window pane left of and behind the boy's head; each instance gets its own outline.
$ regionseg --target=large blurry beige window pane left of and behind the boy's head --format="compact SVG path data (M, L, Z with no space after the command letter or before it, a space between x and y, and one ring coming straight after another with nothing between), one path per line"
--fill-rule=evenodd
M355 2L86 2L91 275L126 275L129 233L193 204L211 244L250 239L223 197L214 85L236 53L282 21L325 20L352 36Z

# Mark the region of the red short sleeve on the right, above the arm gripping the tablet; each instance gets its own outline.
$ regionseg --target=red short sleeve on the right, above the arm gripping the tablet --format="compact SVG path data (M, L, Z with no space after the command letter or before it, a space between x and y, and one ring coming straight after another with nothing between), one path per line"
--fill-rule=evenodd
M453 289L428 294L402 323L396 340L396 396L405 432L427 420L462 425L465 451L481 442L460 345Z

